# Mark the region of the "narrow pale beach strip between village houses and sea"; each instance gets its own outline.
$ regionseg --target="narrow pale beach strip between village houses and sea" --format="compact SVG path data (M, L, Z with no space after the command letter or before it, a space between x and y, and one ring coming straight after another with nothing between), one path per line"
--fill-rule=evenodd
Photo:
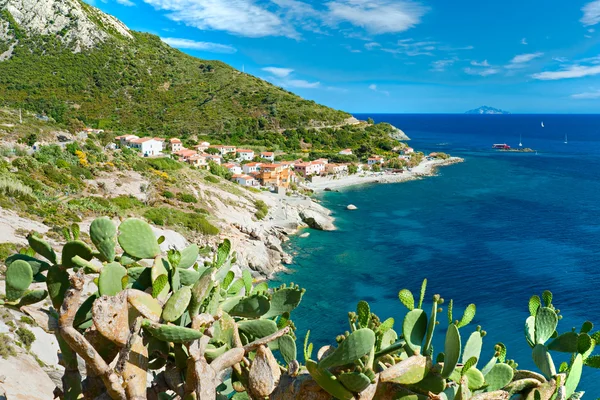
M398 183L420 179L425 176L436 174L436 169L445 165L463 162L460 157L450 157L446 160L423 160L419 165L412 168L411 171L402 173L391 172L360 172L354 175L324 177L318 178L314 182L307 183L305 186L315 192L323 192L326 189L341 190L351 186L364 185L369 183Z

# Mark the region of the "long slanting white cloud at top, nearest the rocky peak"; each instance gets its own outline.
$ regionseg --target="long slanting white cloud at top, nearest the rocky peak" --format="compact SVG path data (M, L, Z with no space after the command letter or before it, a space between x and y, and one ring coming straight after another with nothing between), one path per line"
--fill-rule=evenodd
M298 33L277 14L252 0L144 0L167 17L202 30L220 30L248 37L288 36Z

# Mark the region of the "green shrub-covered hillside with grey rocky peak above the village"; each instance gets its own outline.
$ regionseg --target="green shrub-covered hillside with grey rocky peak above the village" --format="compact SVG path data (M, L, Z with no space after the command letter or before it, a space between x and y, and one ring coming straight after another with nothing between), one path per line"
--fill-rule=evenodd
M349 114L130 31L79 0L0 0L0 104L167 135L337 125Z

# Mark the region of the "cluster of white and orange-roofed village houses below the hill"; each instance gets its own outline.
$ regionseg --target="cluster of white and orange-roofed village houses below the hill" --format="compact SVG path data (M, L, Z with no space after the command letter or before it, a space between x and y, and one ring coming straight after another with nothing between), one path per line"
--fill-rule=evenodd
M366 163L334 163L327 158L307 161L299 158L292 161L276 160L273 151L255 151L238 148L233 145L210 144L200 142L192 148L186 148L178 138L163 139L158 137L138 137L136 135L121 135L115 138L112 148L136 149L143 157L172 157L199 169L210 169L211 163L227 169L231 180L241 186L264 188L274 192L294 188L299 179L312 180L315 177L343 177L351 173L381 171L386 166L386 159L373 155ZM408 162L417 156L414 149L400 146L395 149L399 160ZM343 149L341 156L352 156L352 149ZM436 157L432 153L428 158ZM402 173L402 162L394 163L393 168L387 168L391 173Z

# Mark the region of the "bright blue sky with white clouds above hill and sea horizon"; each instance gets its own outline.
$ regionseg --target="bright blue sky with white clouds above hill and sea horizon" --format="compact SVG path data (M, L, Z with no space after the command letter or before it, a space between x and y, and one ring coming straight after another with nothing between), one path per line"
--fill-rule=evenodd
M600 0L87 0L350 112L600 111Z

